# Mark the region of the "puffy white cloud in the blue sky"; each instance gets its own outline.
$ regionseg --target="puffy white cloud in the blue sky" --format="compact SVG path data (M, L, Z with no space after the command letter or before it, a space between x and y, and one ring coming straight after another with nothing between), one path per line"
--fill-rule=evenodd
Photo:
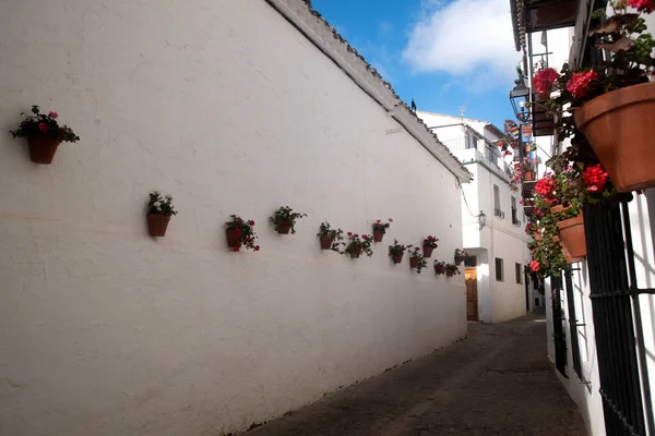
M508 0L424 0L427 11L413 26L403 59L415 72L446 72L458 81L515 77L521 53ZM427 13L426 13L427 12Z

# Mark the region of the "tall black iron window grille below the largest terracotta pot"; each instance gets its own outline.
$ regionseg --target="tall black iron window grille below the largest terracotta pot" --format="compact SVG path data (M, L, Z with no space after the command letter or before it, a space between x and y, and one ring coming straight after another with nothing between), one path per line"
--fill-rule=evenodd
M655 290L636 286L628 203L588 206L584 227L606 432L653 435L639 295Z

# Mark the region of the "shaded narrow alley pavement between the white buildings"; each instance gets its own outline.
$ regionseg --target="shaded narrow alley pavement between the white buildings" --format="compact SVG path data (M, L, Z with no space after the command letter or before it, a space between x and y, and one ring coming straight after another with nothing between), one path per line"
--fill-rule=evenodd
M584 435L546 356L546 320L469 324L451 347L327 395L248 436Z

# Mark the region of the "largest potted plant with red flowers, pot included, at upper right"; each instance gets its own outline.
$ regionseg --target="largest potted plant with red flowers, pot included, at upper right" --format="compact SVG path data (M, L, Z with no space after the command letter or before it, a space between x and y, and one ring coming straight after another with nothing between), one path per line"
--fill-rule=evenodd
M655 2L610 5L614 15L590 32L599 36L597 48L608 50L609 59L593 69L547 68L533 83L558 117L558 138L571 138L571 160L583 169L602 164L616 189L630 192L655 185L655 83L648 80L655 39L644 33L643 19Z

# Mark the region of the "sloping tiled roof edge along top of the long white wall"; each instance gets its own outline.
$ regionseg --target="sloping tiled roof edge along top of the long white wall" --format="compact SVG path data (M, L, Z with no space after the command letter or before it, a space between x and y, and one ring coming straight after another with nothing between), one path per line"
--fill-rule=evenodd
M437 135L409 109L391 84L348 44L321 14L311 9L310 0L266 0L306 38L330 58L357 86L384 108L409 135L419 142L461 183L473 174L443 145Z

